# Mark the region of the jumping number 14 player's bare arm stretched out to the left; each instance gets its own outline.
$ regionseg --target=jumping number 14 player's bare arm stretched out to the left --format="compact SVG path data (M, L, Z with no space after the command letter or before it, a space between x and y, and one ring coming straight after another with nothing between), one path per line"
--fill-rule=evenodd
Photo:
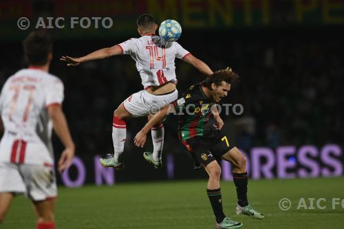
M101 50L97 50L92 52L86 56L81 57L70 57L70 56L61 56L60 61L64 61L67 63L67 66L77 66L80 63L86 61L93 61L98 59L107 58L109 56L115 56L122 54L122 49L118 45L114 45L112 47L105 47Z

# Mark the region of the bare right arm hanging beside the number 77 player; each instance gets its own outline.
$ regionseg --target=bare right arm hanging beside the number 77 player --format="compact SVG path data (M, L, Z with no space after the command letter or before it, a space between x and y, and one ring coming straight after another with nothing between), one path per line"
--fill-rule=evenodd
M60 105L52 105L47 107L47 112L52 119L56 135L60 138L63 146L65 146L65 150L62 152L60 160L58 160L58 171L62 173L72 164L75 146L62 107Z

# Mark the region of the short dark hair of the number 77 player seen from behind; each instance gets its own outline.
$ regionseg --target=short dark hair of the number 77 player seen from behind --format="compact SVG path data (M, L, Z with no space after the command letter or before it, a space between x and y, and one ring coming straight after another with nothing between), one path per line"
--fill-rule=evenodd
M52 52L52 39L47 32L30 32L23 41L23 49L29 65L45 65Z

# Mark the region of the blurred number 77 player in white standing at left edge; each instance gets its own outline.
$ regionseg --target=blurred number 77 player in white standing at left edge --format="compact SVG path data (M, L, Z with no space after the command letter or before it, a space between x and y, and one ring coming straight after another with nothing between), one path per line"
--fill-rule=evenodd
M65 146L58 171L74 157L74 142L61 104L63 83L49 74L52 41L32 32L23 41L29 67L10 76L1 90L0 224L14 195L25 193L38 216L37 229L53 229L57 195L52 151L52 127ZM2 128L1 128L2 129Z

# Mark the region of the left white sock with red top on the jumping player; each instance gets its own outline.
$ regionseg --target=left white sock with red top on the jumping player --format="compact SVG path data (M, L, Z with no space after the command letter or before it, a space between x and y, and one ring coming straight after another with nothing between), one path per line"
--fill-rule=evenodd
M127 137L127 124L125 120L114 116L112 123L112 142L114 143L114 158L118 162L125 149L125 138Z

